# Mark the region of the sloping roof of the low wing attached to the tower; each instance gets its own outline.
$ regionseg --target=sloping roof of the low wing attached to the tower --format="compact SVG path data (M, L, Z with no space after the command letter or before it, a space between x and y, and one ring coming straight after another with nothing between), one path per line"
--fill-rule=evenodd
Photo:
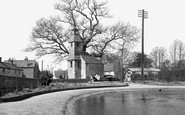
M81 55L86 64L103 64L101 61L90 55Z

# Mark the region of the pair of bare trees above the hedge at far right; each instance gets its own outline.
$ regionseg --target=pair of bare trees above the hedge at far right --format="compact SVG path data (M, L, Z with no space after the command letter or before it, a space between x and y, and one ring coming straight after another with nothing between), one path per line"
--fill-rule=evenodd
M185 44L176 39L170 46L169 53L164 47L156 47L150 57L154 67L162 69L183 69L185 68Z

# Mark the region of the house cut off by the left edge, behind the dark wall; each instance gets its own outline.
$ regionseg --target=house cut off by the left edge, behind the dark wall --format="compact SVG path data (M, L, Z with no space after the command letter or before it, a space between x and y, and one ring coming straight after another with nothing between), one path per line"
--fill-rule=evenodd
M23 70L13 63L2 62L0 57L0 76L23 77Z

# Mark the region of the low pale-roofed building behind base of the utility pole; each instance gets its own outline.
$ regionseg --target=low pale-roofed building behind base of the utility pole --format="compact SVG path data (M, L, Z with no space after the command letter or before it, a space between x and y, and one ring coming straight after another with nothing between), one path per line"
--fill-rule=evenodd
M160 69L155 68L143 68L143 74L149 75L149 74L158 74ZM131 81L131 75L132 74L139 74L141 75L141 68L127 68L125 71L125 81Z

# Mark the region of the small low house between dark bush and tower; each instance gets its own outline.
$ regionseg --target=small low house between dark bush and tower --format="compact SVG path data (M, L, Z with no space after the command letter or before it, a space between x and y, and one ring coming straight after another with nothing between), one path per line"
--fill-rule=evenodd
M68 79L67 70L56 70L53 79Z

